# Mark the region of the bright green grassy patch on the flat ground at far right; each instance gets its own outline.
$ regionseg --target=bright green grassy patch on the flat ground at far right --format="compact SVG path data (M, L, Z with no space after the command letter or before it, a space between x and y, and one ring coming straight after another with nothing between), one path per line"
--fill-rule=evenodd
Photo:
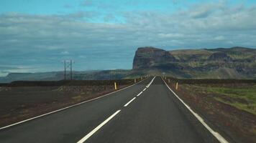
M242 87L198 87L197 91L214 94L214 99L237 109L256 114L256 85ZM216 96L215 96L216 95Z

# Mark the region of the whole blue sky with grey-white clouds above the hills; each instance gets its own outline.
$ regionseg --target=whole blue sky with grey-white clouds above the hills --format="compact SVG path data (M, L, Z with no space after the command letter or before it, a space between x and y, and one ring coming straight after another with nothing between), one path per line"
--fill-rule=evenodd
M0 77L132 69L137 47L256 47L255 0L0 0Z

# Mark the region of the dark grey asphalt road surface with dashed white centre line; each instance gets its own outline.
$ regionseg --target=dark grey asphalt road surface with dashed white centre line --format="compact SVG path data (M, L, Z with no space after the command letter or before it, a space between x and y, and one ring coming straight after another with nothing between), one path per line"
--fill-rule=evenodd
M160 77L149 78L106 97L1 129L0 142L204 142L171 96Z

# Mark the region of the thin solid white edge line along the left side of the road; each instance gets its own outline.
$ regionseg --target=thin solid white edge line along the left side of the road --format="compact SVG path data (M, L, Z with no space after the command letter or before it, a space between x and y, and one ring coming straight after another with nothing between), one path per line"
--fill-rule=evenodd
M142 81L145 81L145 79L142 80ZM142 81L140 81L140 82L142 82ZM139 84L140 82L137 82L136 84ZM84 102L80 102L80 103L78 103L78 104L70 105L69 107L64 107L64 108L62 108L62 109L58 109L58 110L55 110L55 111L53 111L53 112L48 112L48 113L45 113L45 114L41 114L41 115L39 115L39 116L37 116L37 117L32 117L32 118L29 118L29 119L25 119L25 120L23 120L23 121L21 121L21 122L16 122L16 123L14 123L14 124L9 124L9 125L7 125L7 126L5 126L5 127L1 127L0 130L1 130L1 129L6 129L6 128L9 128L9 127L13 127L13 126L15 126L15 125L17 125L17 124L22 124L22 123L24 123L24 122L28 122L28 121L30 121L30 120L32 120L32 119L37 119L37 118L40 118L40 117L44 117L44 116L46 116L46 115L48 115L48 114L52 114L52 113L55 113L55 112L60 112L60 111L63 111L63 110L65 110L65 109L68 109L68 108L71 108L71 107L76 107L76 106L78 106L78 105L80 105L80 104L84 104L84 103L86 103L86 102L91 102L91 101L93 101L93 100L100 99L100 98L102 98L102 97L106 97L106 96L108 96L108 95L110 95L110 94L114 94L115 92L120 92L120 91L122 91L122 90L124 90L124 89L127 89L127 88L129 88L129 87L132 87L132 86L134 86L134 85L136 85L136 84L132 84L132 85L130 85L130 86L128 86L128 87L124 87L124 88L122 88L122 89L119 89L119 90L117 90L117 91L111 92L111 93L109 93L109 94L102 95L101 97L96 97L96 98L94 98L94 99L89 99L89 100L86 100L86 101L84 101Z

